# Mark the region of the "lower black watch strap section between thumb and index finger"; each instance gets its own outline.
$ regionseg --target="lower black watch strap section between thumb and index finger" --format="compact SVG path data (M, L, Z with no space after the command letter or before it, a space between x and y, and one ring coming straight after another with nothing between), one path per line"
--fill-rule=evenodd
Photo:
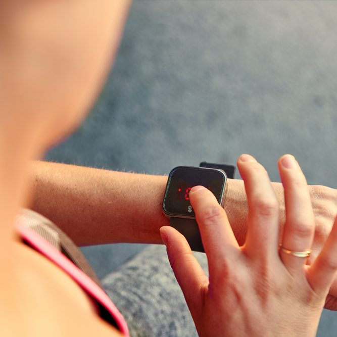
M205 252L196 219L170 217L170 226L186 237L192 251Z

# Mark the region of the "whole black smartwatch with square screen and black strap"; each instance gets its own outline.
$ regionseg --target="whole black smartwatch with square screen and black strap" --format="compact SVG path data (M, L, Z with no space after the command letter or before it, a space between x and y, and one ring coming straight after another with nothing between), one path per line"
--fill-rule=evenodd
M170 226L183 234L192 251L205 252L195 212L189 202L193 186L208 188L223 207L227 176L234 178L235 166L202 162L200 167L178 166L169 173L163 200L163 212Z

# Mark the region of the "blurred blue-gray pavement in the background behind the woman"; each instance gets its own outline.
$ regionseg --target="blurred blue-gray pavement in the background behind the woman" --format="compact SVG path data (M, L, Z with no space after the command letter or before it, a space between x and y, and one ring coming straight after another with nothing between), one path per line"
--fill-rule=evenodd
M167 174L250 153L279 181L291 153L336 188L336 18L328 1L135 0L100 99L46 160ZM103 277L142 247L82 250ZM336 315L318 336L337 335Z

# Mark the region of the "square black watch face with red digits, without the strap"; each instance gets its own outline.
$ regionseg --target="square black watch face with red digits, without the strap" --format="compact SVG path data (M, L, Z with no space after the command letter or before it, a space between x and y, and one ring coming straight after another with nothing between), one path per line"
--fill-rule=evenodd
M178 166L169 174L163 201L163 210L169 216L195 217L189 201L193 186L202 185L212 191L219 204L222 202L226 175L217 169Z

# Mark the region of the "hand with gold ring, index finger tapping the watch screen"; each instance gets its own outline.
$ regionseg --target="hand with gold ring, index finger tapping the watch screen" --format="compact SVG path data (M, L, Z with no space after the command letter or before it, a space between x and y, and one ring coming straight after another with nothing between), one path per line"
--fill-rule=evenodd
M313 336L337 270L337 224L318 257L292 251L311 249L315 218L305 177L294 157L279 160L285 214L279 242L279 205L265 169L248 155L237 166L249 205L248 233L239 247L225 211L212 193L197 186L195 210L209 277L174 228L161 228L175 276L200 336Z

